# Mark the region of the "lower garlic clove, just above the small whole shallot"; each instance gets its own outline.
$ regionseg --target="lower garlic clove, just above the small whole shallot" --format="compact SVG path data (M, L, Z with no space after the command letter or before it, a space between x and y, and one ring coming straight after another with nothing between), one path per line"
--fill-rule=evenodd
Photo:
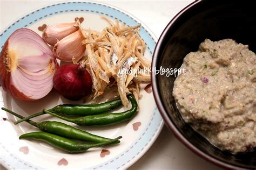
M58 41L53 47L53 54L61 61L72 62L72 59L78 61L85 52L85 46L82 45L83 40L82 32L77 30Z

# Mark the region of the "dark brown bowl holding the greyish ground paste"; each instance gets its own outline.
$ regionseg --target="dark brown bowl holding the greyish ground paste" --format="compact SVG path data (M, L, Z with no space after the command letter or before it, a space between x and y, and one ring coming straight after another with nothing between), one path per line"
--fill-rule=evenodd
M256 52L256 15L251 1L196 1L180 11L166 26L153 54L152 87L158 109L167 126L188 148L208 161L226 168L256 168L256 151L231 154L221 151L187 125L172 96L174 75L155 74L154 69L179 68L189 52L198 50L205 38L232 38ZM188 158L189 159L189 158Z

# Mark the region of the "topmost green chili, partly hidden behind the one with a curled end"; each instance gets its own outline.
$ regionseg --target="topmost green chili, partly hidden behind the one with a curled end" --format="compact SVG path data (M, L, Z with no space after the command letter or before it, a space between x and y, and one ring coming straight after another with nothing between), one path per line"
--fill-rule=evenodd
M99 114L102 112L110 111L111 109L119 107L119 105L122 105L122 101L120 98L113 101L100 103L100 104L86 104L86 105L60 104L54 108L49 109L48 111L54 112L56 114L64 114L67 116L86 116L86 115L93 115L93 114ZM41 111L36 114L25 117L23 119L20 119L19 121L16 121L14 124L18 124L27 119L31 119L33 117L37 117L44 114L45 112Z

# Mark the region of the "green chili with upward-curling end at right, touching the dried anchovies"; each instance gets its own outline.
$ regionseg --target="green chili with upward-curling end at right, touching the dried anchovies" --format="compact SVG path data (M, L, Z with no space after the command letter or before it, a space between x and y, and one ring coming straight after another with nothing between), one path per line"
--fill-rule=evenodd
M111 125L111 124L117 124L120 122L127 121L131 119L133 116L135 116L137 112L138 104L131 95L129 95L128 98L131 101L132 108L130 110L119 112L119 113L106 113L106 114L99 114L99 115L89 115L89 116L78 117L78 118L66 118L66 117L54 114L45 109L43 111L46 112L47 114L63 119L64 121L75 123L77 125L85 125L85 126Z

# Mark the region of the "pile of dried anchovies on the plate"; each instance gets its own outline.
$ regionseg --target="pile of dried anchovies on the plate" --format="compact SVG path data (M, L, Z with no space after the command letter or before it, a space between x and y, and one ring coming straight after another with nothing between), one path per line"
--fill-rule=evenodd
M118 20L114 23L109 18L103 18L110 27L102 32L82 30L85 37L82 44L86 46L87 52L83 60L89 63L87 68L92 75L93 98L98 98L114 86L127 106L129 101L126 95L132 91L138 102L141 97L139 83L151 81L150 75L137 72L142 68L150 69L151 61L144 57L146 44L138 34L140 24L126 26Z

